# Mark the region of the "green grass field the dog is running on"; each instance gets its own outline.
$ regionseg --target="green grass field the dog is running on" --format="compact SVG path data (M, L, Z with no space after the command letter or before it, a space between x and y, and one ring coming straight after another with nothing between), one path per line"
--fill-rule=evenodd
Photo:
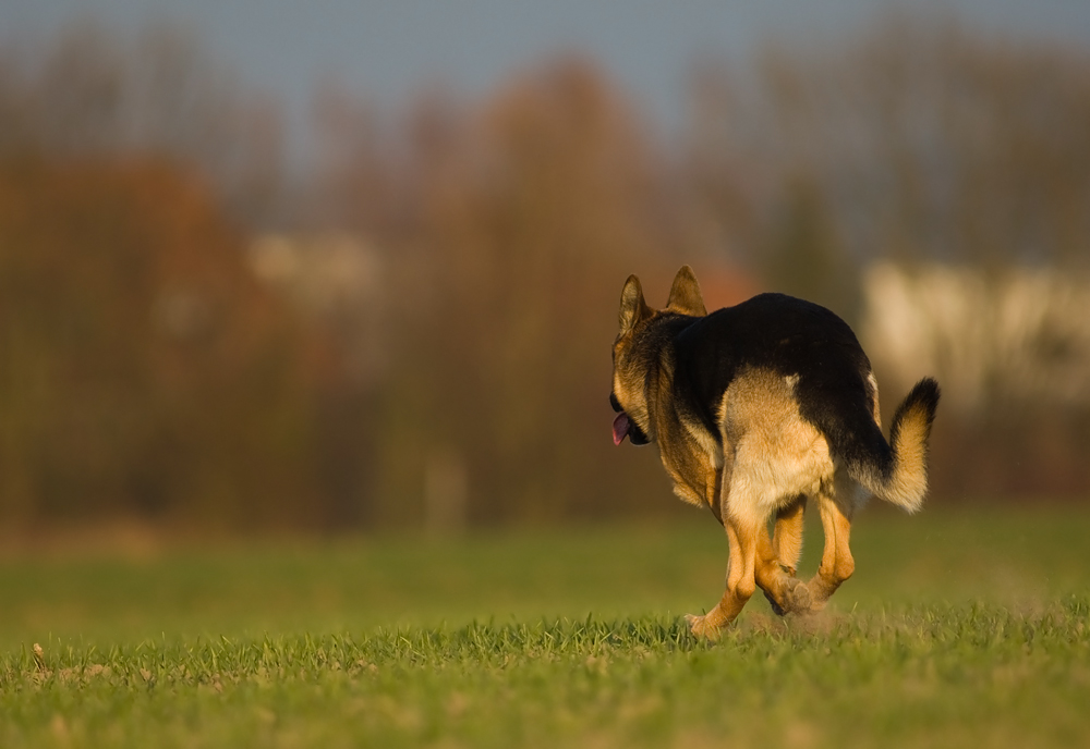
M825 612L754 598L714 644L680 623L723 586L699 513L9 554L0 746L1087 746L1088 539L1088 509L870 507Z

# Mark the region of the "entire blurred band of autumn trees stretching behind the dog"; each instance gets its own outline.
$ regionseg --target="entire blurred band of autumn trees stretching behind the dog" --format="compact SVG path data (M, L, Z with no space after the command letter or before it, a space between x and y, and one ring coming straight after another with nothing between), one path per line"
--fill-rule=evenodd
M662 304L689 262L712 308L775 287L852 323L879 258L1080 278L1088 70L887 25L767 48L743 75L705 61L673 148L579 58L475 103L378 111L328 86L320 158L292 182L268 100L192 39L76 29L0 56L0 521L450 532L679 512L653 451L609 439L625 278ZM359 298L301 304L255 271L258 235L330 233L366 253ZM936 492L1002 474L989 492L1032 493L1041 471L1090 489L1077 450L1017 447L1085 444L1090 407L1038 405L950 404ZM1012 454L1037 457L988 468Z

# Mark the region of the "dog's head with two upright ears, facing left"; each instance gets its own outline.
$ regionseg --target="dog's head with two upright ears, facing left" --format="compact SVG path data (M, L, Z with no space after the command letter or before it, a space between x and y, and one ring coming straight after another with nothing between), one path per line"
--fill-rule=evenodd
M654 439L651 414L647 408L647 372L658 356L655 321L669 315L703 317L704 299L700 285L689 266L681 266L674 277L670 296L665 309L652 309L643 298L640 279L629 275L620 294L620 333L614 341L614 382L609 405L617 414L614 419L614 443L627 437L632 444L647 444Z

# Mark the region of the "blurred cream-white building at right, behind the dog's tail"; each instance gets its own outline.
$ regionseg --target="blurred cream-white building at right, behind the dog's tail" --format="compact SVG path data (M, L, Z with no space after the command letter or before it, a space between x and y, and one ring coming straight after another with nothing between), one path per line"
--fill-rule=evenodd
M863 347L886 398L924 374L944 405L1090 406L1090 279L1055 269L879 263L864 275Z

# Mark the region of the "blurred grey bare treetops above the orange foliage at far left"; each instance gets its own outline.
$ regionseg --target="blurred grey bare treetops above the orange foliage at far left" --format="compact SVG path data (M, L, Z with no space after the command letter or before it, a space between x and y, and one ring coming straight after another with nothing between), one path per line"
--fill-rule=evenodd
M160 25L125 37L86 21L4 51L0 156L169 157L198 170L232 217L277 218L277 109L191 34Z

